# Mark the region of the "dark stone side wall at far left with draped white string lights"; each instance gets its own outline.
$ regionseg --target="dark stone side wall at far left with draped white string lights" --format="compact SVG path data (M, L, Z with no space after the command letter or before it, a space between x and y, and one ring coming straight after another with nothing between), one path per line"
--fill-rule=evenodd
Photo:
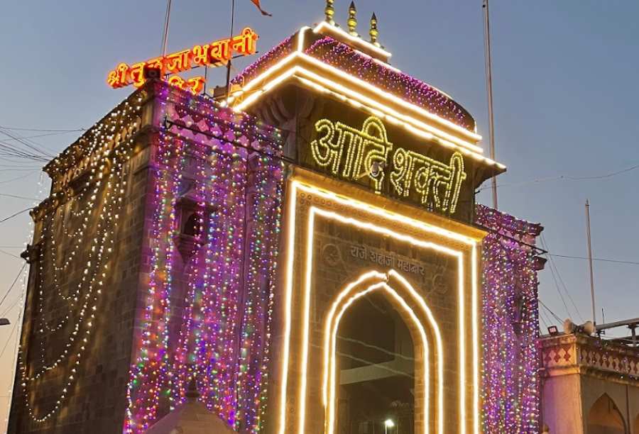
M52 189L31 213L9 433L121 432L146 216L148 102L146 90L129 96L45 167Z

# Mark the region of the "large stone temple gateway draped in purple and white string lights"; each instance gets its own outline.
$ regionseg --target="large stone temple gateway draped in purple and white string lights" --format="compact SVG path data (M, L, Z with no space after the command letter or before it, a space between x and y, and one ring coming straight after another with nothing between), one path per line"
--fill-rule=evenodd
M45 167L10 433L174 426L193 379L243 433L539 430L542 228L330 3L222 104L150 80Z

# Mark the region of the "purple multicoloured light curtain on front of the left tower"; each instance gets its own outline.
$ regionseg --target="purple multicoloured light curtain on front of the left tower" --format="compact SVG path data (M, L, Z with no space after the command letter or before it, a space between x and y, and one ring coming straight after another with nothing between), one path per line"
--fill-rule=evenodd
M182 404L195 374L200 401L210 411L235 430L257 433L271 357L282 137L252 116L157 86L155 122L171 121L151 138L157 167L148 206L149 274L141 288L123 430L148 430L164 414L162 399L171 409ZM184 253L174 241L182 237L178 204L187 191L195 208L182 213L195 212L199 248L187 254L185 306L175 311L175 261Z

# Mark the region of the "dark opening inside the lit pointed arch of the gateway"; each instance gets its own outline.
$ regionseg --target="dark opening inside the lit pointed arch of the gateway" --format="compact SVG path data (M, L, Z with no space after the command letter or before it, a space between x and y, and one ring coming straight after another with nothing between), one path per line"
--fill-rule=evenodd
M337 433L415 432L415 345L383 293L356 300L337 328Z

